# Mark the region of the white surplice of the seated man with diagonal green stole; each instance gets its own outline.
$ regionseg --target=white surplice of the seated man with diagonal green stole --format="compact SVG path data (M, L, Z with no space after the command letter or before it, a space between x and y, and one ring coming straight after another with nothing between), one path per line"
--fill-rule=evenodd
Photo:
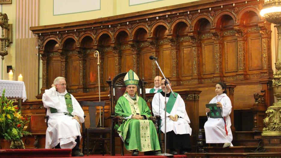
M173 94L170 94L173 95ZM172 96L173 97L173 96ZM160 98L160 107L159 107L159 98ZM166 101L168 102L169 98L166 98ZM154 97L152 99L152 112L154 113L154 116L160 116L161 117L161 131L165 132L165 97L158 92L154 94ZM178 115L179 118L177 121L172 121L168 116L175 116ZM176 98L176 102L173 106L173 109L170 113L166 113L166 132L174 131L175 134L189 134L191 135L191 128L189 126L190 120L185 110L185 102L181 98L181 96L178 94Z

